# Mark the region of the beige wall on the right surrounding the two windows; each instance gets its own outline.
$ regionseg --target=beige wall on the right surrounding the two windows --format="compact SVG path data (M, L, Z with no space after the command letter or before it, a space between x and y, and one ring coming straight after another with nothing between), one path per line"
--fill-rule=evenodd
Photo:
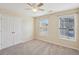
M68 48L73 48L79 50L79 17L77 17L77 37L76 41L69 41L69 40L63 40L59 37L59 31L58 31L58 24L59 19L58 16L61 15L73 15L76 14L79 16L79 8L78 9L71 9L66 11L61 11L57 13L53 13L50 15L40 16L35 18L35 38L39 40L43 40L49 43L65 46ZM40 36L39 35L39 20L40 19L48 19L48 36Z

